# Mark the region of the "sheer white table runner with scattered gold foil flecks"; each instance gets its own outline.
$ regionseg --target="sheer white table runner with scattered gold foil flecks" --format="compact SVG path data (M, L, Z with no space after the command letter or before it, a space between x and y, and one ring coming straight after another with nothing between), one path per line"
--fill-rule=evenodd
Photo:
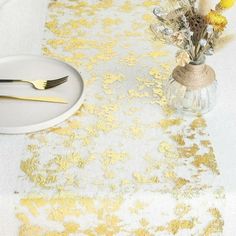
M60 126L27 135L19 235L222 234L224 189L206 121L175 114L163 94L174 56L149 32L156 4L50 2L43 52L81 71L86 102Z

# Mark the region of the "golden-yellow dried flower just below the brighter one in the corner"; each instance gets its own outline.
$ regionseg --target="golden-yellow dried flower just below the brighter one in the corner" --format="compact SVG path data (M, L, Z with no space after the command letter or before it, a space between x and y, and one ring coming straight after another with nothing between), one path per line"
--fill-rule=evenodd
M207 16L206 20L208 24L211 24L214 27L214 30L217 32L221 32L225 29L228 21L225 16L221 15L217 11L211 10Z

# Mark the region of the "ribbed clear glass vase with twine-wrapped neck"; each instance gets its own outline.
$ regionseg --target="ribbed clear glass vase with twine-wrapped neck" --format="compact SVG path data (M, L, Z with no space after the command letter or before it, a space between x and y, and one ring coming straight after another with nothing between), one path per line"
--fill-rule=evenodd
M205 114L216 104L215 72L204 63L176 67L165 84L169 105L189 115Z

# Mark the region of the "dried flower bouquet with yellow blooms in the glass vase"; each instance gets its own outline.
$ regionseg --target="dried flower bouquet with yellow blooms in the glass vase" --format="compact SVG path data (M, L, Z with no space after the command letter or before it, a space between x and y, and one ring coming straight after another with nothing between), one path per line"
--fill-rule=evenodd
M228 24L223 15L236 0L221 0L215 7L211 0L167 0L165 8L153 11L158 19L151 25L155 37L165 43L177 46L176 55L181 66L192 62L199 64L205 55L213 55L217 45L233 39L222 34Z

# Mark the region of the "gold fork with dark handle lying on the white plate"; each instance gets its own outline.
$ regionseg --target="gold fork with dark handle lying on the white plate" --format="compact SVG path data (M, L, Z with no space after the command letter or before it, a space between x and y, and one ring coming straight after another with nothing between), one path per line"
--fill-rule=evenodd
M54 80L26 80L26 79L0 79L0 83L9 83L9 82L26 82L33 85L35 89L45 90L56 87L60 84L65 83L68 80L69 76L64 76L59 79Z

